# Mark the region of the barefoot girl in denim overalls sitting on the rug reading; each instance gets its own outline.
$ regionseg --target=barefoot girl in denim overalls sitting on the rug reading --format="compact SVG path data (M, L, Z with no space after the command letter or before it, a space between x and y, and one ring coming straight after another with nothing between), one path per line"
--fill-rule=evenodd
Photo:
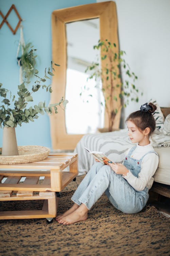
M96 162L73 194L72 207L56 217L58 223L67 225L86 220L88 211L104 192L123 213L138 213L145 207L159 161L149 141L155 129L152 115L155 110L154 104L146 103L128 116L128 136L137 145L126 152L123 164Z

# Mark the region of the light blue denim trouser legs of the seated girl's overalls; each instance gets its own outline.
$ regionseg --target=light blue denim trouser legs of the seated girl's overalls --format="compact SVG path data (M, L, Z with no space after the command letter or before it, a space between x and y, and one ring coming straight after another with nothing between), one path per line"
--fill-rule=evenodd
M71 200L87 209L105 192L115 208L124 213L138 213L145 207L149 195L148 189L136 191L120 174L116 174L108 165L96 162L86 174Z

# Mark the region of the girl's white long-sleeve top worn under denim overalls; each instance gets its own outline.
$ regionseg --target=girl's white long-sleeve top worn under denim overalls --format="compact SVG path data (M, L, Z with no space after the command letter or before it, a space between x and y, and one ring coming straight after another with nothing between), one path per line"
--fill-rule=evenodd
M128 155L130 149L126 152L126 155ZM146 146L137 145L131 157L139 160L147 152L153 150L154 149L151 144L148 144ZM154 181L153 175L158 167L158 162L159 157L155 153L147 154L142 159L141 170L138 174L138 178L135 177L130 171L127 173L127 175L123 177L137 191L143 190L146 186L148 189L150 189Z

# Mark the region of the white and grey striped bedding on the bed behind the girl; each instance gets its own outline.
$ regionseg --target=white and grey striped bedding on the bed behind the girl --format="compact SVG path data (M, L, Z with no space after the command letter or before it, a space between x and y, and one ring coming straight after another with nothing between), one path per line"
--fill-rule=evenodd
M164 133L154 132L151 142L155 148L169 147L170 150L170 136ZM115 162L122 162L126 150L133 145L128 137L127 129L84 135L74 150L75 153L78 153L79 175L87 173L95 162L84 147L87 147L90 151L101 151Z

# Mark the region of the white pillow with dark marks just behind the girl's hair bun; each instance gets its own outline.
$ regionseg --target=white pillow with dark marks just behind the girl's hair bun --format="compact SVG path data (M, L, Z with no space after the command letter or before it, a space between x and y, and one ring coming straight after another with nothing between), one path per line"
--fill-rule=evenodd
M153 117L155 118L155 123L156 123L155 130L163 132L165 117L160 109L160 106L158 105L158 103L156 102L155 99L151 99L149 102L152 102L157 107L157 109L153 115Z

